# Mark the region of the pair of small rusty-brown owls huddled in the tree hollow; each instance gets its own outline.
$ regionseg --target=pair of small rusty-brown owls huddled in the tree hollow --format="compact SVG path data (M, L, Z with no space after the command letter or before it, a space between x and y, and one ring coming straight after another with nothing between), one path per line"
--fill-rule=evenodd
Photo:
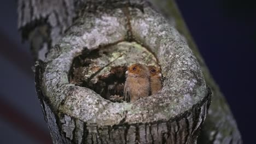
M132 64L126 71L124 98L133 102L157 93L161 88L161 71L154 66Z

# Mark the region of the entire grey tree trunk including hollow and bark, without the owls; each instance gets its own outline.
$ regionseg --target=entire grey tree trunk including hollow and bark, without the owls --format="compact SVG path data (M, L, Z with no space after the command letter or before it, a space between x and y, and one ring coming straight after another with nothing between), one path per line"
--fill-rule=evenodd
M199 64L173 26L185 35L213 88L211 107L220 105L223 95L173 4L167 22L144 1L19 1L22 35L30 41L34 58L42 60L36 66L36 88L54 143L196 143L210 92ZM129 53L139 57L127 58ZM124 69L118 73L118 66L138 61L161 65L162 91L135 103L110 102L112 94L122 96ZM108 83L111 76L117 82ZM203 140L241 143L231 112L225 102L221 106L210 108ZM220 124L231 125L228 135L212 113L219 119L231 118Z

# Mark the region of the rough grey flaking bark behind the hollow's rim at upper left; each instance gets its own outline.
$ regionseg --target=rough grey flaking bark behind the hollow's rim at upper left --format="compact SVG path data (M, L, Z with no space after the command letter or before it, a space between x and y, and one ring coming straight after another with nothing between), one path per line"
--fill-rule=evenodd
M112 3L112 5L108 5ZM98 5L109 8L125 4L139 5L143 1L121 2L117 0L19 0L18 28L22 38L31 44L34 60L45 59L45 54L62 37L82 9L94 10ZM123 6L122 6L123 7Z

